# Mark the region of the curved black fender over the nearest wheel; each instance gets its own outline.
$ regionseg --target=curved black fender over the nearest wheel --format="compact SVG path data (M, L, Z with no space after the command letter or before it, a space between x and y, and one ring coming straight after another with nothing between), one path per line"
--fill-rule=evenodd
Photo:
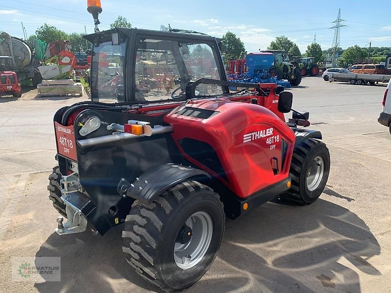
M172 163L154 166L130 184L126 195L148 205L168 188L195 176L211 178L207 172L192 167Z

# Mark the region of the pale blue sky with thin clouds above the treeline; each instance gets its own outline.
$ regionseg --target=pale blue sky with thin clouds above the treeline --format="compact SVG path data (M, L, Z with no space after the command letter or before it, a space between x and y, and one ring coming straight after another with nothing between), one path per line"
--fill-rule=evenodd
M100 30L109 29L118 15L126 17L133 27L159 30L160 25L195 30L221 38L231 31L244 42L247 52L266 49L277 36L285 35L302 53L314 40L323 50L331 47L332 21L341 18L342 48L352 45L391 46L391 1L371 6L363 0L327 1L231 1L231 0L101 0L103 12ZM93 32L87 0L1 0L0 31L23 38L44 22L67 33ZM86 27L85 27L86 26Z

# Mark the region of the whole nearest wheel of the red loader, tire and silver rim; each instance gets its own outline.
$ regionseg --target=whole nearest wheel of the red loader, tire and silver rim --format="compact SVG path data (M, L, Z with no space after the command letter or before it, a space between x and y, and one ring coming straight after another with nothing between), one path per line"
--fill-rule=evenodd
M133 203L122 232L122 250L145 280L165 291L180 291L192 286L212 265L224 219L218 195L188 180L148 206Z

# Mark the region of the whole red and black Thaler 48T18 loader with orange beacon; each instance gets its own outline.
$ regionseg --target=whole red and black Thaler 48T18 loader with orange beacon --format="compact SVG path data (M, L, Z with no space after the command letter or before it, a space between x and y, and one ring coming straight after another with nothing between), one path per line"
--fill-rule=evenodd
M99 23L100 2L88 3ZM130 268L180 291L212 265L225 217L277 196L311 204L321 195L330 158L318 130L298 127L309 125L309 114L292 110L292 94L276 94L276 84L227 81L215 38L136 28L85 38L93 44L92 101L54 115L58 166L48 189L61 214L58 234L88 227L103 235L122 225ZM200 52L211 68L192 62ZM108 65L101 53L118 54L126 79L111 102L121 103L102 103L100 73ZM143 58L167 67L180 90L142 93Z

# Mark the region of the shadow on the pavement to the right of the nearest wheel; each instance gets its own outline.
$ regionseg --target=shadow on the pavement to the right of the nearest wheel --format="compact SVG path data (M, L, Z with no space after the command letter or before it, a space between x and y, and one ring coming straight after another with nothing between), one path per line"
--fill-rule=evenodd
M379 243L355 213L322 199L309 206L281 203L227 220L217 266L225 265L218 271L232 280L205 291L220 276L204 277L189 292L223 293L241 284L242 292L358 293L357 271L381 274L369 263L380 254Z

